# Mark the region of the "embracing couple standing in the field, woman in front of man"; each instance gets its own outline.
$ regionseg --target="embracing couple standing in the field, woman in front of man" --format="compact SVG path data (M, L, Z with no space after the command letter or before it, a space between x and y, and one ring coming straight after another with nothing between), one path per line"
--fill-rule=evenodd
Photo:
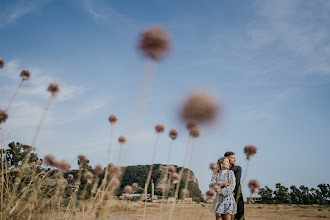
M233 219L244 220L242 168L235 163L235 153L226 152L224 157L218 160L220 169L212 175L210 188L216 191L212 211L216 220L231 220L232 216Z

